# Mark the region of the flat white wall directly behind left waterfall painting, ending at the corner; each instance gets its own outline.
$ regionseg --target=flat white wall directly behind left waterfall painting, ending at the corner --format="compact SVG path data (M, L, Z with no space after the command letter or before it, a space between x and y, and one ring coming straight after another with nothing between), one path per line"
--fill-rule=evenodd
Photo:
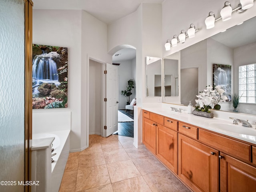
M68 48L68 108L33 113L71 110L71 149L81 148L81 15L81 10L33 10L33 43Z

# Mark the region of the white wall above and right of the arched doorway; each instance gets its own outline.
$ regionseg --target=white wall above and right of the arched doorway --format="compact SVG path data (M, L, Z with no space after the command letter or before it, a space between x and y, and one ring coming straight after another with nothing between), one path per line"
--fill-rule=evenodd
M139 106L142 106L142 102L158 101L156 98L146 98L145 57L162 57L161 40L161 4L142 3L132 14L108 25L108 53L114 54L118 46L125 44L136 48L136 102ZM140 112L134 113L134 118L138 118ZM134 122L134 130L138 136L138 139L134 139L134 145L142 146L141 121Z

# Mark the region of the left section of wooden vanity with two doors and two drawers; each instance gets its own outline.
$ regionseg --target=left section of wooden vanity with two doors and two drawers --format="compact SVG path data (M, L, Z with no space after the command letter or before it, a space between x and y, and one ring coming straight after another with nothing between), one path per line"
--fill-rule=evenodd
M178 122L143 110L142 142L170 170L178 174Z

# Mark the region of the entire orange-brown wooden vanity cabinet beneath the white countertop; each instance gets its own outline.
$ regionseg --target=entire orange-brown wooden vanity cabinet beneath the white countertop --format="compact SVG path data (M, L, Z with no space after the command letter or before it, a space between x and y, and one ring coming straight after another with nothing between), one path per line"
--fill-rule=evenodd
M143 110L142 141L195 192L256 192L256 146Z

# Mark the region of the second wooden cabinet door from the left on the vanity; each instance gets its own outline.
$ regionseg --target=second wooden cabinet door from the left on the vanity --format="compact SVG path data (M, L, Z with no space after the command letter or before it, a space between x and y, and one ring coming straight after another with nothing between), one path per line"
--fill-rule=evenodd
M174 173L178 174L178 133L158 125L156 127L156 156Z

